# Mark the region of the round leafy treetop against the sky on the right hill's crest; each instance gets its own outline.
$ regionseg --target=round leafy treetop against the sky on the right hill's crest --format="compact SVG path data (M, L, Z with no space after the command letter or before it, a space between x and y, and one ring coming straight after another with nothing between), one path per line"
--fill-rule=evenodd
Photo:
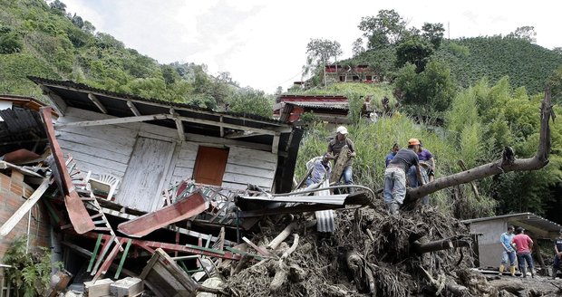
M406 22L400 14L392 10L380 10L376 16L363 16L359 23L370 49L398 43L406 32Z

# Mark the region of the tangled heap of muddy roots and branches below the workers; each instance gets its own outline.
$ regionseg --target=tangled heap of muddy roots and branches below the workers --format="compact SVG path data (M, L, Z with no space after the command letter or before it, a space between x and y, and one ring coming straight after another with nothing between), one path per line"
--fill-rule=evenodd
M429 207L399 216L382 206L338 215L333 235L307 228L314 221L306 216L283 231L283 220L260 225L253 241L271 255L223 271L229 290L237 296L498 295L470 270L469 230L457 220ZM284 242L272 245L279 236Z

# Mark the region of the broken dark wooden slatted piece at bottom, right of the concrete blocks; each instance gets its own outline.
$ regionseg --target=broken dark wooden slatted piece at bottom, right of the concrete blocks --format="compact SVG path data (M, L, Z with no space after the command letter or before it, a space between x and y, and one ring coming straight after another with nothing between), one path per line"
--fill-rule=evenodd
M140 279L150 283L151 290L163 297L189 297L199 287L198 283L160 248L140 273Z

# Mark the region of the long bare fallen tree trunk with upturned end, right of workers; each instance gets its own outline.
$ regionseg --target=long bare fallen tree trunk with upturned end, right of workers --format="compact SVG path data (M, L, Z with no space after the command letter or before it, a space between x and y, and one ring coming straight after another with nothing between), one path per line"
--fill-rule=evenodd
M513 159L509 158L509 154L506 154L504 150L503 158L497 161L455 173L451 176L437 178L422 187L409 188L404 204L413 204L423 196L430 195L443 188L470 183L473 180L482 179L484 177L490 177L509 171L537 170L545 167L548 164L548 153L550 151L550 127L548 122L551 117L554 120L554 111L552 110L552 104L550 102L550 90L548 89L545 91L545 99L541 103L540 110L540 137L537 155L535 155L535 157Z

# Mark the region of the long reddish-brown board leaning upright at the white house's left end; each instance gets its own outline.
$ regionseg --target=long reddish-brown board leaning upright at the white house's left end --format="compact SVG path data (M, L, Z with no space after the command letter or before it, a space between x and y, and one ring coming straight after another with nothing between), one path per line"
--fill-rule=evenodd
M76 190L74 189L73 179L68 174L66 169L66 164L63 159L63 151L59 146L58 141L54 136L53 120L51 119L51 108L44 107L41 108L41 119L44 122L44 127L47 131L47 138L51 145L51 151L53 153L54 162L59 175L62 179L62 187L64 196L64 205L68 211L68 216L71 219L74 230L78 234L84 234L95 228L95 225L86 210L86 207L82 204L82 200Z

